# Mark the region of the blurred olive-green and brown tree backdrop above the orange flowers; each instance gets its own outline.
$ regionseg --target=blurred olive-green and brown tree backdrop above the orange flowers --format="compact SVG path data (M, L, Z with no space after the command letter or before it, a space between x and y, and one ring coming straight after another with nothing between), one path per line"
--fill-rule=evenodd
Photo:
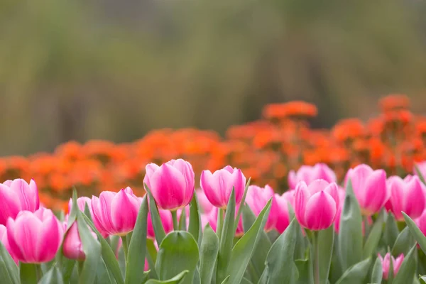
M305 99L314 126L426 105L416 0L1 0L0 155L151 129L219 133Z

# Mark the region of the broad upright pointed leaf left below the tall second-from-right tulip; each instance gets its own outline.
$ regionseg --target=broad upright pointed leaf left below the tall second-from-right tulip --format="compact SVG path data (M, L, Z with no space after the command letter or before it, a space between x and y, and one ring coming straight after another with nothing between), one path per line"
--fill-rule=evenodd
M361 231L362 218L361 209L349 180L346 188L346 196L340 218L340 232L338 237L339 256L342 270L345 271L362 259L363 236Z

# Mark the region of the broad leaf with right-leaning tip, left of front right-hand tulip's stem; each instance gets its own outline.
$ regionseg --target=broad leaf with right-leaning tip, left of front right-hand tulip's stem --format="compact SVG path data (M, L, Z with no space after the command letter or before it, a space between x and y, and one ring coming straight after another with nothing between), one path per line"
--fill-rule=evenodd
M268 283L294 283L298 278L293 261L295 254L296 231L300 229L295 219L273 243L266 257Z

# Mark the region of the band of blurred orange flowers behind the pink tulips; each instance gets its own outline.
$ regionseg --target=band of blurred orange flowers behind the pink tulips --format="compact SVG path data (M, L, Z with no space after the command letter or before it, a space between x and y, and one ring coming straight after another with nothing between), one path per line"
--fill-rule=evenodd
M161 129L133 143L71 141L54 153L0 158L0 180L34 178L41 202L62 209L73 187L90 196L129 185L142 194L145 165L173 158L190 161L197 175L232 165L252 182L280 192L288 187L288 171L304 164L327 163L339 180L359 163L392 175L410 173L416 161L426 160L426 117L412 114L401 94L379 104L381 113L366 124L344 119L330 130L310 128L314 105L289 102L267 105L264 119L231 126L225 138L214 131Z

